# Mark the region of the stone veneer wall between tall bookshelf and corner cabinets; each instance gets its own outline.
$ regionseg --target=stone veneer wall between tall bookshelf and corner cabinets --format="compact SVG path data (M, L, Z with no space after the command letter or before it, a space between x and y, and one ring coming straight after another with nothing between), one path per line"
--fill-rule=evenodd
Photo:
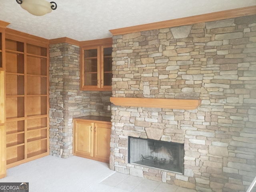
M50 155L73 155L74 117L110 116L110 91L81 91L80 48L68 43L50 45Z

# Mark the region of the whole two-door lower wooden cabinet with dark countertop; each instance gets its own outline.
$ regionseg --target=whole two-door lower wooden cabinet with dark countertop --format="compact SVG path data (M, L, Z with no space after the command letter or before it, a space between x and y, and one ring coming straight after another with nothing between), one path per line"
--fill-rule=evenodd
M73 120L73 154L109 163L110 118L86 116Z

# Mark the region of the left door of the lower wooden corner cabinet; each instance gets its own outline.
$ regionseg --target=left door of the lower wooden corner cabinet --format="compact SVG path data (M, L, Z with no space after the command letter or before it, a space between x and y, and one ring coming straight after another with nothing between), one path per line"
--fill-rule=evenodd
M93 124L74 122L74 154L93 157Z

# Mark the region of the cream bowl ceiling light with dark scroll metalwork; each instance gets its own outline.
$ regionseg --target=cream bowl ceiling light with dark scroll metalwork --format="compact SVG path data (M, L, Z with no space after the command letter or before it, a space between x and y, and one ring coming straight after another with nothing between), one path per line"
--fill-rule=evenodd
M20 6L30 12L32 15L42 16L46 13L56 10L57 4L55 2L47 2L46 0L16 0Z

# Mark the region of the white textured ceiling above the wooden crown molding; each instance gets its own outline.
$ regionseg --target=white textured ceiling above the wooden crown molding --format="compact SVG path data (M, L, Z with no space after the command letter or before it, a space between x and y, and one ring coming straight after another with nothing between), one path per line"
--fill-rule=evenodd
M50 2L50 0L47 0ZM57 9L34 16L16 0L0 0L8 28L46 39L111 37L110 29L256 5L256 0L54 0Z

